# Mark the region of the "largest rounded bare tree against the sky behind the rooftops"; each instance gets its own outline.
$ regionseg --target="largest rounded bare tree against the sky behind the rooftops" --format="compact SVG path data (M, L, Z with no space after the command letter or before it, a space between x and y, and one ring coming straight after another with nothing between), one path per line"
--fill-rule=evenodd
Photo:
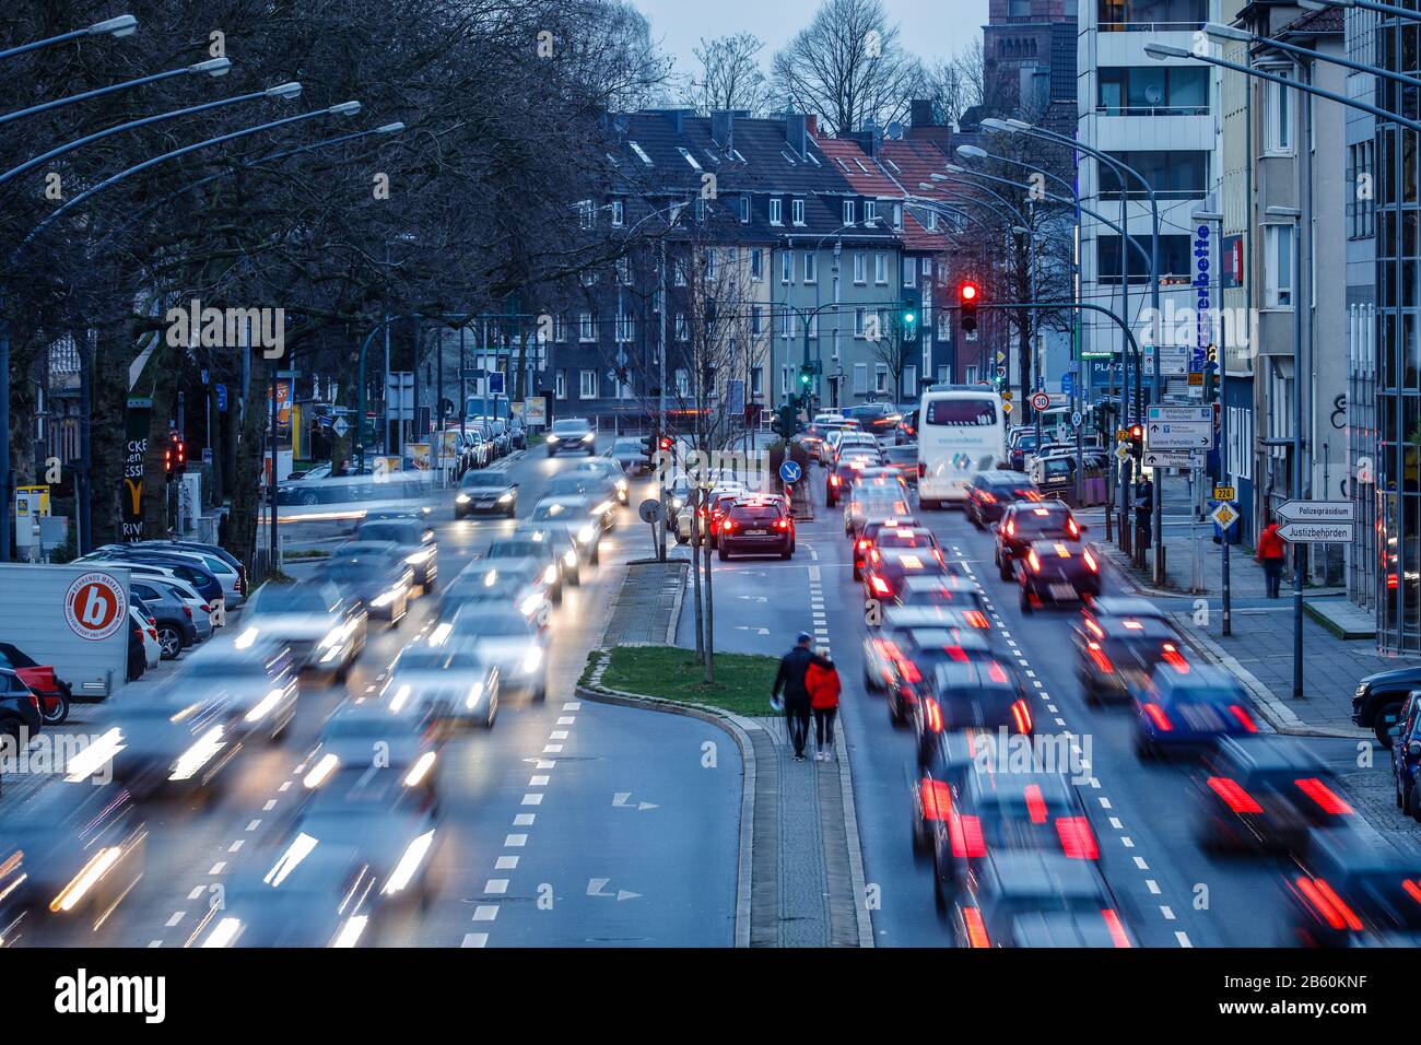
M774 55L772 75L777 100L820 114L834 134L902 119L924 81L881 0L824 0Z

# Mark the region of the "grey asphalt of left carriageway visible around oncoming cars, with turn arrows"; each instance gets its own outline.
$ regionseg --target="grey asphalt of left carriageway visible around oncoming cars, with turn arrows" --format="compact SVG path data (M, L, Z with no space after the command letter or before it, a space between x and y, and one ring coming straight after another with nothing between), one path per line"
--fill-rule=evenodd
M573 466L539 452L514 459L519 515L543 485ZM637 491L632 505L638 502ZM502 520L453 520L453 492L436 503L439 577L450 580ZM733 944L742 766L733 744L709 724L581 702L573 694L588 650L601 638L622 564L645 554L645 526L620 513L603 542L603 564L567 589L553 614L546 704L506 701L492 732L462 734L441 752L438 894L425 910L377 917L374 943L391 945L655 945ZM283 532L286 537L286 532ZM293 530L323 543L321 533ZM634 542L639 542L635 543ZM294 542L293 542L294 543ZM331 543L327 537L324 543ZM310 564L291 564L294 574ZM303 680L297 719L274 746L244 751L205 803L153 802L146 870L97 931L51 924L31 943L180 947L240 869L266 869L284 847L298 773L331 709L374 691L401 647L432 627L433 600L416 599L394 628L372 624L345 685ZM122 711L77 711L91 731ZM715 766L703 765L706 742ZM55 785L48 785L55 786ZM0 803L0 826L4 805Z

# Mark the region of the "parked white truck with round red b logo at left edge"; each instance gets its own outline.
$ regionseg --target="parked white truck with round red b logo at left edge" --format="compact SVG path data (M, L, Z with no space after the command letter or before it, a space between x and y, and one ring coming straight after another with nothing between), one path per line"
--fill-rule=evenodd
M0 640L74 688L77 704L107 700L128 678L128 570L84 563L0 563Z

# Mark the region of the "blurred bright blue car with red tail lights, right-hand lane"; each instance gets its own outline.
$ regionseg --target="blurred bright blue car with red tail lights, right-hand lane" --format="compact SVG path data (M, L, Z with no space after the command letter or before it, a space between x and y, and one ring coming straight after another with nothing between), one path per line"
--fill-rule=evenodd
M1222 736L1249 736L1258 724L1239 681L1208 664L1189 664L1174 644L1134 694L1135 752L1157 758L1196 752Z

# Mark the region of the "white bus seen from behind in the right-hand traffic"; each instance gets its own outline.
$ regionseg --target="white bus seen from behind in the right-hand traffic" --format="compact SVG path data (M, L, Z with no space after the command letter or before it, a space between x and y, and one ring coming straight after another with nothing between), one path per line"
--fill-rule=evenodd
M1002 397L988 385L932 385L918 408L918 503L961 503L978 472L1006 461Z

